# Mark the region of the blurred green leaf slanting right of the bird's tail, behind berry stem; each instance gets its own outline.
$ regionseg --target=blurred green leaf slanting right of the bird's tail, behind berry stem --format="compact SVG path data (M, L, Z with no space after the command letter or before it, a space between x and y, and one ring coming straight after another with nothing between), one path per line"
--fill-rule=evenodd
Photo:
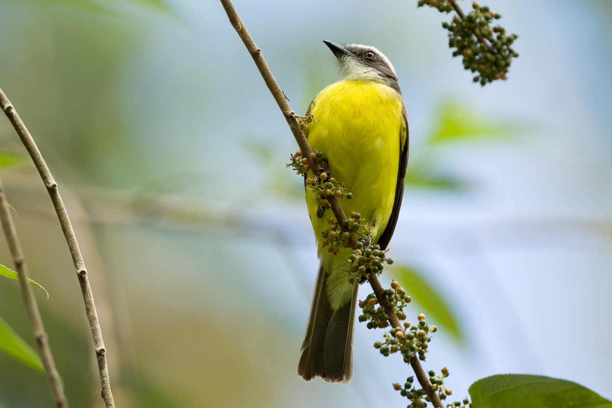
M465 338L449 303L436 291L435 286L422 278L422 273L406 265L394 264L388 269L390 275L405 287L406 293L411 295L412 300L423 307L430 324L438 326L442 332L448 333L456 341L463 343Z

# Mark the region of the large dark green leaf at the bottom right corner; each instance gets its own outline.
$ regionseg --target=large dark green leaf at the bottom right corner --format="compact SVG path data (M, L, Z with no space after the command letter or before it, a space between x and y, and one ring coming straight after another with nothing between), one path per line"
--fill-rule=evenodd
M612 402L572 381L499 374L469 387L474 408L612 408Z

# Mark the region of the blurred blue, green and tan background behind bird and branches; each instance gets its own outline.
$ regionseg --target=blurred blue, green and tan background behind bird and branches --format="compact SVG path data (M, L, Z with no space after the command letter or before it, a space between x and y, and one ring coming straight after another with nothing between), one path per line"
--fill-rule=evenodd
M321 40L395 65L411 158L381 279L412 295L410 319L438 325L425 369L447 366L458 399L498 373L612 398L612 3L488 1L520 57L484 88L452 59L447 17L416 3L235 6L296 112L337 77ZM118 407L407 404L391 385L411 370L362 324L350 385L297 377L318 262L285 168L296 144L220 2L0 0L0 87L64 197ZM4 116L0 150L65 391L100 407L70 254ZM18 283L1 277L0 316L34 346ZM0 353L0 405L53 406L45 376Z

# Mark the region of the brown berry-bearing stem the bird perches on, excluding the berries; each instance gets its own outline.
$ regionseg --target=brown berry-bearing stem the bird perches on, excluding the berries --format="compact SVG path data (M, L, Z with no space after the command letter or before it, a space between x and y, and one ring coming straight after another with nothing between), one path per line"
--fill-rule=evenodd
M230 0L221 0L221 3L223 4L223 8L227 13L228 18L230 18L232 26L234 27L234 29L236 29L236 32L242 39L242 42L244 42L244 45L247 47L248 52L253 57L253 61L255 61L255 65L259 69L261 76L263 76L263 79L266 82L268 89L270 90L270 92L272 92L274 100L278 103L278 107L285 116L285 119L289 124L289 128L291 128L291 132L293 132L293 136L296 138L297 145L300 147L300 150L302 150L302 154L304 155L304 157L308 158L308 165L311 169L318 168L316 160L310 157L310 154L313 151L310 147L310 144L308 144L306 136L304 136L304 132L302 132L302 128L300 128L300 125L296 120L296 114L293 112L293 109L291 109L291 106L289 106L285 94L283 93L282 89L280 89L280 86L278 86L277 81L274 79L271 70L267 66L266 61L264 60L264 57L261 54L261 50L257 47L255 41L253 41L253 38L250 36L250 34L248 34L247 28L244 26L244 23L242 23L242 20L236 12L236 9L234 8L232 2ZM340 207L340 203L335 199L333 195L329 196L327 199L329 201L329 204L332 206L332 211L334 212L336 220L338 220L338 224L341 225L342 221L346 220L347 218L344 211L342 210L342 207ZM386 304L384 303L386 302L386 296L384 296L383 294L383 287L381 286L376 274L370 273L370 278L368 279L368 281L370 281L370 284L376 294L378 302L381 303L381 305ZM399 327L400 319L398 319L397 314L395 314L395 312L393 310L390 310L388 307L386 309L387 314L389 315L390 323L393 325L393 327ZM427 396L429 397L433 406L436 408L442 408L442 402L438 394L433 391L433 387L431 386L429 377L427 376L427 374L425 374L425 371L420 365L419 360L417 360L417 358L412 358L410 364L412 366L412 369L414 369L414 373L416 374L420 385L424 388L425 392L427 392Z

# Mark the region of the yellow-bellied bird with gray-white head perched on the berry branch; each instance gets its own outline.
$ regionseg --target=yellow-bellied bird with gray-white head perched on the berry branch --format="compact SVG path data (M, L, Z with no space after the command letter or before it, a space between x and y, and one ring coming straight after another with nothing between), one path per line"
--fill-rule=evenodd
M360 213L371 245L387 248L404 193L408 162L408 116L395 69L374 46L338 45L340 78L313 98L304 133L327 161L330 176L353 194L340 199L346 214ZM312 179L310 169L305 178ZM353 333L359 283L349 281L351 248L324 247L332 210L306 188L308 214L318 246L319 269L297 373L305 381L349 384L353 377ZM363 279L362 279L363 281Z

